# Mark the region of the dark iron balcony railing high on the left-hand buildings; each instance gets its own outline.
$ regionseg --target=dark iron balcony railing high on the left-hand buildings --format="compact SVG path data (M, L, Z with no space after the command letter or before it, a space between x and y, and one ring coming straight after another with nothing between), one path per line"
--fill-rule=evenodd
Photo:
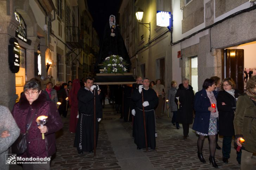
M78 27L66 26L66 43L70 48L83 48L82 34Z

